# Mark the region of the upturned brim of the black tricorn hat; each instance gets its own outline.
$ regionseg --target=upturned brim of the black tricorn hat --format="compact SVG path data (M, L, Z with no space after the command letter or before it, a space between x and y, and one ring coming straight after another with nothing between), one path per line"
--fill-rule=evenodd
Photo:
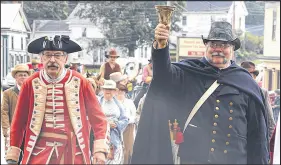
M67 42L62 41L62 47L57 48L53 46L51 41L46 40L46 38L47 36L32 40L27 46L27 51L29 53L39 54L45 50L64 51L66 53L74 53L82 50L81 46L73 40L68 40Z

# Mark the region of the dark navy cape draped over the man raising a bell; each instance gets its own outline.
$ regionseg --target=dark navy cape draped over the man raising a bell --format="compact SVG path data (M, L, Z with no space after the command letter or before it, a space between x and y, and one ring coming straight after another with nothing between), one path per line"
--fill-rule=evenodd
M173 164L167 121L178 119L181 116L183 126L191 109L206 91L201 89L202 86L197 81L193 81L194 77L212 80L212 82L217 80L220 84L234 87L249 95L262 111L260 116L264 118L264 122L260 125L266 127L266 113L261 89L245 69L231 61L231 66L221 71L209 65L205 58L171 64L168 50L167 46L164 49L154 50L152 53L153 81L143 105L134 143L132 164ZM165 68L168 69L165 70ZM177 100L177 98L185 97L187 92L192 95L190 100ZM183 111L183 108L186 110ZM266 135L263 136L263 140L267 141L264 138L267 138ZM261 151L257 151L253 157L250 154L248 156L257 159L258 163L267 161L265 157L267 157L268 148L266 143L261 143Z

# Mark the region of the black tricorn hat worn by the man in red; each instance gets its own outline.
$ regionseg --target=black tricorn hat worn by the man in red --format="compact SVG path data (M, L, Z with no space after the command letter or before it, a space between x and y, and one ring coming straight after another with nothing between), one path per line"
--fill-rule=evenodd
M44 50L50 51L64 51L66 53L74 53L81 51L81 46L73 40L70 40L69 36L59 36L55 37L41 37L34 39L27 46L27 51L29 53L39 54Z

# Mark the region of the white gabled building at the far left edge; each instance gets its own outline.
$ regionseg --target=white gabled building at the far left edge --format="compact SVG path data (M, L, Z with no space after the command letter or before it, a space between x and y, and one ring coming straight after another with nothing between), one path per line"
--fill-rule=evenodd
M16 64L30 61L26 53L30 31L21 4L1 3L1 80Z

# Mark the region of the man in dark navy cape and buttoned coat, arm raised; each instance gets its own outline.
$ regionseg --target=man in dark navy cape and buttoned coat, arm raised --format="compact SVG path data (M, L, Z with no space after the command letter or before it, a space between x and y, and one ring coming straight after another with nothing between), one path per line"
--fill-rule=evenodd
M217 80L179 140L181 164L267 164L266 114L257 83L232 61L240 40L227 22L213 22L202 59L171 64L169 27L158 24L153 42L153 80L140 117L132 164L172 164L168 121L180 131L191 110ZM160 45L160 41L166 45ZM177 134L178 135L178 134ZM173 136L176 141L181 136ZM179 134L180 135L180 134Z

